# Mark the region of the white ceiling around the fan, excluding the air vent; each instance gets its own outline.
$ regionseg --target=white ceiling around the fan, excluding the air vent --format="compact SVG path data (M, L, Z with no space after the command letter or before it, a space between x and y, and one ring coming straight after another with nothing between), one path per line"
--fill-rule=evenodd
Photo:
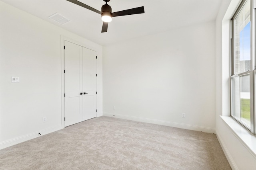
M215 20L222 0L110 0L112 12L144 6L145 14L114 17L101 33L100 14L66 0L2 0L100 45L151 35ZM80 0L101 10L103 0ZM48 17L59 13L71 20L60 25Z

